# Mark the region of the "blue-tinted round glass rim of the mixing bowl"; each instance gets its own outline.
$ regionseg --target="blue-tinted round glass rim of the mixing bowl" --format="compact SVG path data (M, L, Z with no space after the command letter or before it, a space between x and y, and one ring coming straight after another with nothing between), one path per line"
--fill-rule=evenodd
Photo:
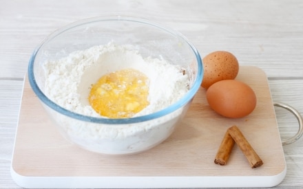
M165 32L168 32L175 37L181 38L183 41L185 41L187 43L187 45L189 45L192 52L196 56L196 60L198 63L196 80L195 80L193 86L191 87L191 89L189 89L189 91L185 94L185 96L180 98L174 104L171 104L169 107L166 107L165 109L156 111L154 113L150 113L147 115L141 115L141 116L134 117L134 118L97 118L97 117L92 117L92 116L88 116L88 115L82 115L80 113L75 113L73 111L67 110L67 109L59 106L52 100L50 100L41 91L41 89L39 88L39 86L36 83L36 79L34 78L34 61L36 58L36 54L38 54L38 52L39 52L39 49L41 49L41 47L43 47L43 45L45 43L48 43L48 41L52 40L52 38L55 38L59 34L65 32L67 30L70 30L73 27L78 27L81 25L85 25L87 23L93 23L93 22L99 22L99 21L130 21L130 22L143 23L145 25L149 25L152 27L158 27L160 30L164 30ZM43 102L43 104L46 104L48 107L50 107L54 111L61 113L63 115L66 115L67 117L74 118L76 120L81 120L83 122L93 122L93 123L98 123L98 124L132 124L132 123L145 122L145 121L149 121L149 120L154 120L155 118L163 117L165 115L168 115L169 113L176 111L180 107L185 106L185 104L187 104L187 102L189 102L192 98L194 98L196 92L200 88L200 85L202 83L202 78L203 78L203 66L202 66L202 60L201 60L200 54L199 54L198 50L196 49L196 47L194 47L194 45L192 45L183 34L181 34L180 32L178 32L176 30L171 29L170 27L160 25L158 23L149 21L147 19L140 19L140 18L136 18L136 17L132 17L132 16L120 16L120 15L118 15L118 16L96 16L96 17L92 17L89 19L82 19L79 21L75 21L73 23L65 25L64 27L61 27L58 30L55 30L49 36L47 36L40 43L40 45L38 45L38 47L36 47L36 49L34 49L34 52L32 53L32 56L30 57L29 65L28 65L28 78L29 78L29 82L30 82L30 86L32 87L32 90L34 91L34 93L36 93L36 96L41 100L41 102Z

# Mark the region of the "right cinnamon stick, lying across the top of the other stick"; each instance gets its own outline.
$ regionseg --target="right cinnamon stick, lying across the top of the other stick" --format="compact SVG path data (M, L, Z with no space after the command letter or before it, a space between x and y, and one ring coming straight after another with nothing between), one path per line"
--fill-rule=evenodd
M259 155L255 153L255 150L253 150L253 147L246 140L240 129L238 129L237 126L231 126L229 129L227 129L227 131L229 135L231 135L233 140L236 142L236 144L240 147L245 157L247 157L251 168L257 168L259 166L262 166L262 159L260 159Z

